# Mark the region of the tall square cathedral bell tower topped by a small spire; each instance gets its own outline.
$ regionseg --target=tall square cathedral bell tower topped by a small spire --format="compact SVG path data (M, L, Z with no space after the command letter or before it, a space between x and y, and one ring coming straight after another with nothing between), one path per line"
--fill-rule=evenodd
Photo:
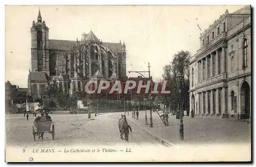
M33 20L31 32L31 70L45 71L50 75L49 70L49 29L45 21L42 22L40 9L37 22Z

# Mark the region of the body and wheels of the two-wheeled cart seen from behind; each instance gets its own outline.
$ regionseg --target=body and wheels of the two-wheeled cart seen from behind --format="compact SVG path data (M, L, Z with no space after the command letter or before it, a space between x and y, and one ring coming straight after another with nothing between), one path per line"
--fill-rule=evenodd
M51 127L52 127L52 129L51 129ZM36 135L44 135L44 133L52 134L52 139L54 140L55 129L54 129L54 124L53 124L52 120L34 121L34 125L33 125L34 141L35 141Z

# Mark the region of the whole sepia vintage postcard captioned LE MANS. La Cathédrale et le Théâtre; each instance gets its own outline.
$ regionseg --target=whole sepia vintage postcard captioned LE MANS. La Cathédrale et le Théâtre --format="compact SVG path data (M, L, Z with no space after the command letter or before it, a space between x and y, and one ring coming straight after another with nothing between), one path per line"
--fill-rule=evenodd
M251 6L6 6L7 162L251 161Z

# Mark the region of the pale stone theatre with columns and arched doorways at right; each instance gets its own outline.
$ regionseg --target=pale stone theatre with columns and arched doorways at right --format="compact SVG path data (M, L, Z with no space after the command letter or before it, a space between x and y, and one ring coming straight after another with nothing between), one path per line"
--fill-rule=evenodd
M190 58L190 111L236 119L251 115L250 6L221 15L201 33Z

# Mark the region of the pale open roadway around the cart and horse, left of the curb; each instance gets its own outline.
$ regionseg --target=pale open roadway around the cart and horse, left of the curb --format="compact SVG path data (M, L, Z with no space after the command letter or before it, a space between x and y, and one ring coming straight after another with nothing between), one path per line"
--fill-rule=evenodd
M158 146L160 143L152 139L142 129L130 124L132 133L129 134L129 143L120 139L118 119L121 113L103 113L89 120L87 114L55 114L51 115L55 124L55 139L45 133L44 140L33 140L32 125L35 117L29 121L23 115L12 115L6 118L6 143L13 147L59 147L68 145L137 145L150 144ZM132 138L131 138L132 136Z

